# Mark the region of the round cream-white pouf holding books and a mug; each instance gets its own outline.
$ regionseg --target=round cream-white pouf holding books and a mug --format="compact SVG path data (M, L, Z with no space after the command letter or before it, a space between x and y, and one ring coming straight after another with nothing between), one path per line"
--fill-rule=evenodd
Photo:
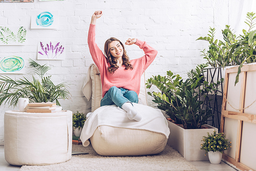
M6 111L5 160L12 165L62 163L72 155L72 111Z

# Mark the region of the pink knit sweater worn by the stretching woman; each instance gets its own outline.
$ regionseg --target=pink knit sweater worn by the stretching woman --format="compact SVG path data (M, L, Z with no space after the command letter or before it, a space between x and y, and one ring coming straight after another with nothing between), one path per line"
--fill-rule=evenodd
M95 43L95 25L90 24L88 33L88 45L93 61L100 72L100 78L102 83L102 97L113 86L117 88L123 88L127 90L133 90L138 95L140 92L140 78L143 72L156 58L157 51L148 46L145 41L137 39L135 45L138 45L140 49L143 49L145 55L132 59L130 62L133 65L133 70L125 70L125 66L119 67L114 74L108 71L109 63L106 61L106 57Z

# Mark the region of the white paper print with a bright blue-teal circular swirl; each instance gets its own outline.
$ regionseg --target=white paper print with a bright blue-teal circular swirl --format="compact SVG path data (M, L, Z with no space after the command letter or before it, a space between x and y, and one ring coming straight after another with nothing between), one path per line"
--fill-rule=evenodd
M58 24L58 10L33 10L31 12L31 29L57 29Z

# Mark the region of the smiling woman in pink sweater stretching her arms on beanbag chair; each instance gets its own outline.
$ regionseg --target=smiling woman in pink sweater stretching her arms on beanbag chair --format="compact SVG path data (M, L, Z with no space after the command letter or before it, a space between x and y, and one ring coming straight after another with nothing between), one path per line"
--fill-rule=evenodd
M129 119L140 121L141 116L132 103L138 103L141 75L153 62L157 51L144 41L129 38L125 45L135 44L145 53L141 58L129 60L122 42L111 37L105 42L104 55L95 43L96 20L101 16L102 11L94 12L88 33L90 53L99 69L102 83L100 106L116 104L127 112Z

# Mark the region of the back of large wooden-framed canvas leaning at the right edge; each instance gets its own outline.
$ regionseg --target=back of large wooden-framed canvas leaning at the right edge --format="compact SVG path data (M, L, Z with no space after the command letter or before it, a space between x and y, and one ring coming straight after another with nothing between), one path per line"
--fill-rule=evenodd
M255 138L256 136L256 130L254 130L254 126L256 124L256 91L252 90L252 94L248 95L248 92L251 91L249 90L249 88L252 88L252 86L248 86L249 84L252 84L254 81L254 89L256 88L256 84L255 84L255 80L256 80L256 76L254 77L254 72L256 75L256 65L244 65L241 69L241 74L240 74L240 80L239 83L237 84L237 86L234 86L234 78L237 75L237 71L238 71L238 67L234 67L234 68L230 68L226 70L226 74L225 74L225 86L224 86L224 94L223 94L223 102L222 102L222 114L221 114L221 124L220 124L220 132L221 133L230 133L229 137L232 137L231 135L236 135L237 137L234 137L233 140L235 140L235 142L232 142L231 145L236 144L235 146L232 146L231 151L229 151L230 153L223 153L223 159L226 160L227 162L233 164L234 166L238 167L241 170L256 170L256 156L254 154L254 163L253 162L249 162L249 164L243 164L241 163L241 149L242 149L242 142L249 142L250 139L243 139L243 134L246 135L245 132L243 132L243 126L244 124L249 123L249 125L251 126L251 123L253 123L254 125L252 125L253 128L253 135L249 135L251 136L252 139ZM250 76L250 78L248 78L248 73L249 75L253 75L253 77ZM230 79L230 76L232 75L232 79ZM254 79L253 79L254 78ZM241 85L241 86L240 86ZM233 90L238 90L238 91L233 91ZM239 93L240 91L240 93ZM246 95L247 92L247 95ZM231 97L232 95L234 95L233 93L236 93L237 95L235 95L236 97L233 98ZM240 95L239 95L240 94ZM239 98L240 96L240 98ZM250 98L250 100L248 100L248 98ZM246 99L247 98L247 99ZM247 100L247 103L245 105L245 99ZM236 102L234 102L236 101ZM249 104L248 104L249 101ZM237 109L236 109L237 108ZM250 112L246 113L248 111L248 109L250 108ZM230 119L227 119L230 118ZM233 125L235 126L226 126L225 127L225 119L226 121L229 120L229 122L234 123ZM237 125L236 125L237 122ZM227 124L228 125L228 124ZM230 124L229 124L230 125ZM237 126L237 127L236 127ZM232 129L236 130L237 129L237 133L235 133L233 131L232 134ZM248 138L248 135L246 135L245 137ZM228 138L228 137L227 137ZM228 138L229 139L229 138ZM254 144L254 145L253 145ZM251 153L254 153L256 151L256 143L252 142L251 143ZM248 149L246 146L243 146L243 149ZM230 150L230 149L229 149ZM235 151L235 153L234 153ZM247 151L246 151L247 152ZM229 156L229 154L232 154ZM250 154L248 154L250 155ZM243 157L244 157L244 153L243 153ZM246 157L244 157L246 158ZM245 160L243 158L243 161ZM245 162L246 163L246 162ZM247 165L250 165L247 166Z

